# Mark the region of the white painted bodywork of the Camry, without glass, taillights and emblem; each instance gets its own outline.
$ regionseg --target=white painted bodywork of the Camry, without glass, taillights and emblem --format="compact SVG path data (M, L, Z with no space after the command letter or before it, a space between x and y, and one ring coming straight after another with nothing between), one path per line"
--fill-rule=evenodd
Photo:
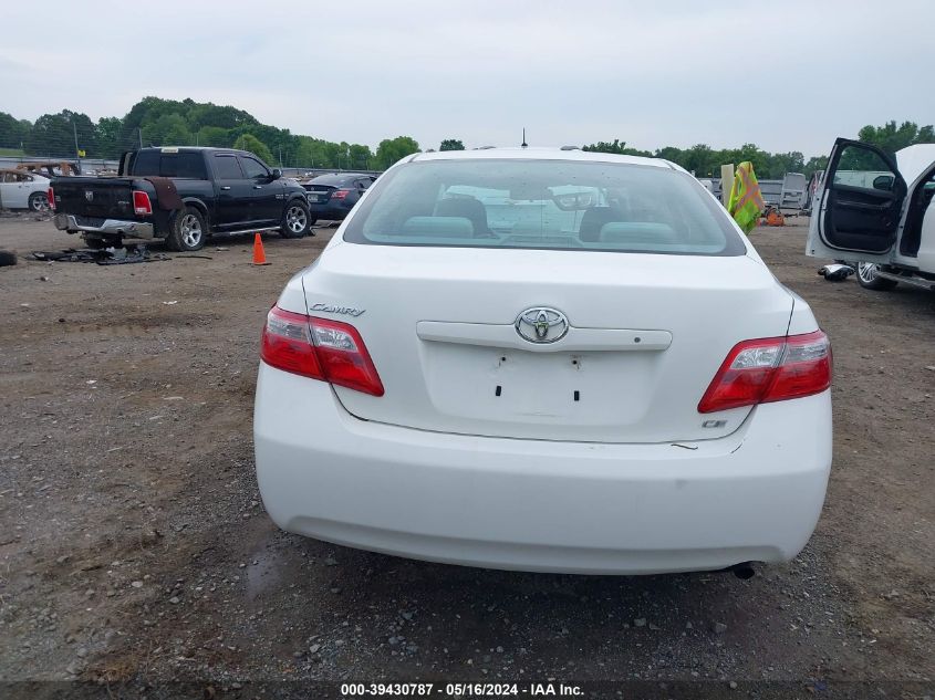
M414 158L673 167L538 149ZM360 207L278 306L352 324L385 395L261 363L257 473L277 524L415 558L585 574L801 550L831 463L829 391L697 410L736 343L818 328L746 239L729 257L366 245L343 240ZM513 323L536 306L564 313L568 334L521 341Z

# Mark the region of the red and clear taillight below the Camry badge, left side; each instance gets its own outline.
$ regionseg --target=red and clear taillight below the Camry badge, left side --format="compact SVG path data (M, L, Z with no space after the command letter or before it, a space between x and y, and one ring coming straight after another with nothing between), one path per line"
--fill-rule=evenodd
M373 396L383 383L361 334L346 323L270 309L260 357L278 369Z

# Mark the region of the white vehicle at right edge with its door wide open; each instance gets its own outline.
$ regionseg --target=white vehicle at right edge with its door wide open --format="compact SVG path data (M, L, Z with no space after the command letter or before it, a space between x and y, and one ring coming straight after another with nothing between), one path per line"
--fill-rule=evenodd
M896 157L839 138L815 192L806 252L858 263L871 290L935 290L935 144Z

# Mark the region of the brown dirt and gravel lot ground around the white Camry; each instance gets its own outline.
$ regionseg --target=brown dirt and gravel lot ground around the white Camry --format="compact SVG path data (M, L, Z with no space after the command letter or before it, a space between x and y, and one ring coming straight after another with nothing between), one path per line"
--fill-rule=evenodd
M828 283L803 228L754 234L834 345L828 501L790 565L747 582L489 572L287 535L263 513L259 330L330 232L270 236L267 268L236 238L210 260L0 269L0 680L238 694L283 679L720 679L819 697L873 681L931 697L935 295ZM76 242L0 219L0 248L21 254Z

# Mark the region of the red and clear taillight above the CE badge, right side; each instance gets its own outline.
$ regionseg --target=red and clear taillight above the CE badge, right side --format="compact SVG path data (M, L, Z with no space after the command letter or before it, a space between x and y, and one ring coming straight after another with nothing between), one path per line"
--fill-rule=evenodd
M820 394L831 386L831 344L821 331L735 345L698 404L710 414Z

